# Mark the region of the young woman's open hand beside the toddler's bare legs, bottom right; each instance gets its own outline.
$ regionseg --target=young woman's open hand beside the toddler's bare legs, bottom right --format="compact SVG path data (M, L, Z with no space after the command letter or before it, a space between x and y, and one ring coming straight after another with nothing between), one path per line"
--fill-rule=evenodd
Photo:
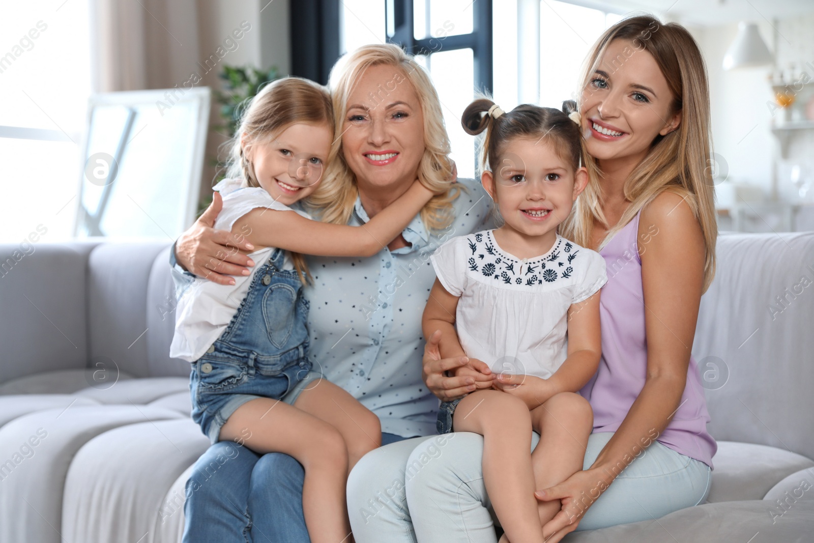
M556 543L573 532L585 511L597 501L597 497L605 492L611 482L607 475L590 469L577 471L560 484L536 491L534 496L540 501L562 501L562 509L543 526L545 543Z

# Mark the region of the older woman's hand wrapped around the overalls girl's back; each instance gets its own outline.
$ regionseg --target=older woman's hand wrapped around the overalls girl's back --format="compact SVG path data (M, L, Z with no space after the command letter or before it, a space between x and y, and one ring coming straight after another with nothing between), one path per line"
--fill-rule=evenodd
M234 285L230 275L248 275L244 266L254 261L243 252L251 252L254 246L243 234L215 230L215 219L223 208L218 192L212 194L212 204L206 208L195 224L190 226L175 243L175 258L184 269L199 277L221 285Z

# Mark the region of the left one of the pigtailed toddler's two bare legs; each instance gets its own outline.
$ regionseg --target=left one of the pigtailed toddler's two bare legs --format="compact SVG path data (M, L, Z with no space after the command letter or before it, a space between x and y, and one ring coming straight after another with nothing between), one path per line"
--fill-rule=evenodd
M531 414L518 398L497 390L471 392L453 414L454 431L484 436L484 484L512 543L542 541L534 497Z

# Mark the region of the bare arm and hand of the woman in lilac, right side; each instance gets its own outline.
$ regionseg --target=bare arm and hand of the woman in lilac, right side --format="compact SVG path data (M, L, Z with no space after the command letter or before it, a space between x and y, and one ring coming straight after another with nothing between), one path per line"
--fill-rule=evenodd
M684 393L704 277L701 226L689 205L672 192L657 196L642 210L640 221L659 232L641 254L645 385L589 470L538 493L541 499L562 499L562 510L546 524L546 533L556 532L549 541L576 528L573 521L578 523L619 472L667 427Z

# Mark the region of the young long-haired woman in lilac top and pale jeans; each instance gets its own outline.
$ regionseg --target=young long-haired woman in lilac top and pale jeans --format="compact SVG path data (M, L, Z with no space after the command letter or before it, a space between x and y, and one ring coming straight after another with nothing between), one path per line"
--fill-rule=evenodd
M561 500L547 541L580 529L657 519L701 503L716 443L690 355L702 292L715 270L709 98L702 57L676 24L622 20L599 38L580 112L592 176L562 234L606 259L602 361L581 391L594 430L579 471L540 500ZM443 400L465 388L427 344L427 386ZM535 397L540 382L501 375ZM447 437L447 436L445 436ZM539 436L532 438L532 449ZM348 481L356 541L495 541L481 471L483 437L405 440L368 453ZM357 514L354 515L354 512Z

